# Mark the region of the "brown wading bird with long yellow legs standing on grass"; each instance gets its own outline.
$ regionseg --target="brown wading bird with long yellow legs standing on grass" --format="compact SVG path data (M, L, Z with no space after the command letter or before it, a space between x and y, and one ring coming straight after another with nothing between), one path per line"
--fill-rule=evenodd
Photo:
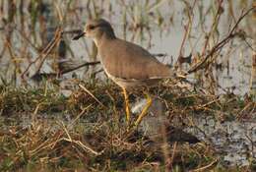
M149 88L157 85L160 80L175 77L175 73L153 56L142 46L118 38L114 29L104 19L89 20L83 31L73 37L73 40L86 36L96 44L99 61L106 76L123 90L127 123L130 122L129 96L127 91L139 87ZM152 97L144 91L147 104L135 120L138 126L147 115L152 105Z

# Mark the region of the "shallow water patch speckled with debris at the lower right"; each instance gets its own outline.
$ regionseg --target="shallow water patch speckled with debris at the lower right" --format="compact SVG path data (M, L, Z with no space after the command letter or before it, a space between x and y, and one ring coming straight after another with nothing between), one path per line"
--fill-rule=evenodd
M198 115L192 121L194 127L188 127L185 131L212 145L225 165L246 166L251 158L256 158L255 121L220 123L214 117L203 115Z

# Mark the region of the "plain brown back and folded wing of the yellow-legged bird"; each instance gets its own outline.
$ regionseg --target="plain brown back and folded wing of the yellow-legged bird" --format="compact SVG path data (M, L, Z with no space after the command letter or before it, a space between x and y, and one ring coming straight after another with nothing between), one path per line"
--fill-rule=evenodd
M143 47L118 38L106 41L104 46L98 47L98 51L104 70L109 75L141 81L171 76L171 70Z

